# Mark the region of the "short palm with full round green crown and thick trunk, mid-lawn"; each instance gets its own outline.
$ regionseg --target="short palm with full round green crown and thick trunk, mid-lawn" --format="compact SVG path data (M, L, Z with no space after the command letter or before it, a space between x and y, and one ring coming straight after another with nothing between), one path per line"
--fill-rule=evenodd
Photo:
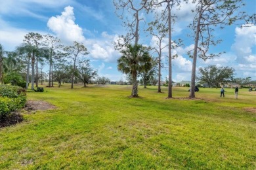
M128 44L121 50L121 57L117 60L117 69L125 74L129 74L133 79L132 97L138 97L137 76L148 69L148 63L152 59L148 53L148 48L141 44Z

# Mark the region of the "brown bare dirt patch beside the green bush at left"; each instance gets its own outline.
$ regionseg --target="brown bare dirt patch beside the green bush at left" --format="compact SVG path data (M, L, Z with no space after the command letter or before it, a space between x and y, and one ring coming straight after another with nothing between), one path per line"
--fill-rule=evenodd
M49 110L56 109L54 105L47 103L46 101L35 101L29 100L27 101L24 110L33 111L33 110Z

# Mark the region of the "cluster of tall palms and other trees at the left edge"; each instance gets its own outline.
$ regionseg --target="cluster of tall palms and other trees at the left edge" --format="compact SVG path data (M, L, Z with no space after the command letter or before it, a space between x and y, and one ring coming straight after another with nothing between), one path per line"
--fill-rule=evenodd
M17 82L25 81L26 89L28 89L29 82L31 82L31 88L34 90L38 87L39 79L41 78L41 84L43 84L42 80L46 78L47 74L43 73L43 67L47 63L49 65L49 87L53 87L54 80L58 81L59 86L67 80L72 82L73 88L75 79L86 77L86 82L89 82L90 78L96 76L94 69L78 70L88 69L79 67L79 65L84 65L83 62L77 63L87 54L87 48L82 43L74 42L72 46L64 47L61 41L53 35L30 32L25 35L24 43L16 47L13 52L5 51L0 44L0 83L17 85ZM89 60L87 60L87 66L88 62ZM88 74L93 74L93 76Z

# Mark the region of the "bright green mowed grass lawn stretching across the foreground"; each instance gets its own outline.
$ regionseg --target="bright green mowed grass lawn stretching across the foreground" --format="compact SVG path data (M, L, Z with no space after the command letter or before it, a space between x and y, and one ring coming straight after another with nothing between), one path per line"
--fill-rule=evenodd
M0 169L256 169L256 92L70 84L28 92L52 110L0 129ZM179 98L178 98L179 97Z

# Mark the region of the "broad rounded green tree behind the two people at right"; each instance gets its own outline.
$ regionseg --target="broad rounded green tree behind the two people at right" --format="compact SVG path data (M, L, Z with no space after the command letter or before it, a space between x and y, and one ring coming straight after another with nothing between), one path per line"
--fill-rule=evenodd
M216 88L220 83L230 82L234 76L234 69L231 67L217 67L216 65L209 65L199 69L200 76L198 80L206 82L210 87Z

